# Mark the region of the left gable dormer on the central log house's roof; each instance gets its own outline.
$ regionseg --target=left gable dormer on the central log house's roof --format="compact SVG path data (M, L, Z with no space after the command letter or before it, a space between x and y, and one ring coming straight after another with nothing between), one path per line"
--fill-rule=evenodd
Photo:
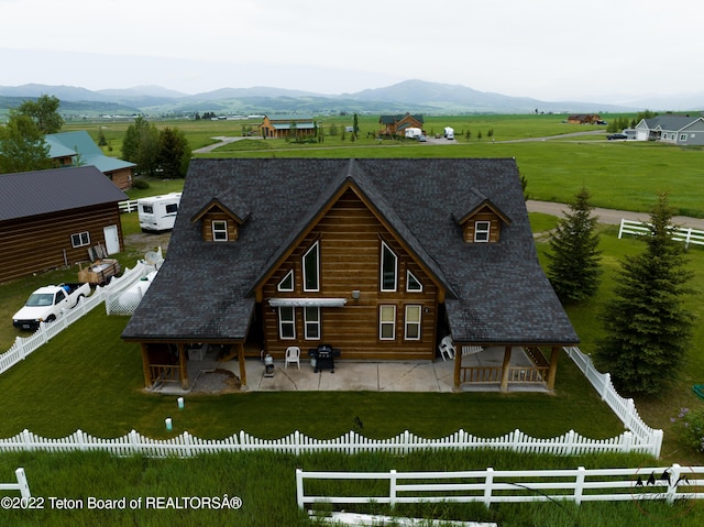
M249 217L249 208L234 193L223 193L201 208L191 222L200 223L205 242L233 242Z

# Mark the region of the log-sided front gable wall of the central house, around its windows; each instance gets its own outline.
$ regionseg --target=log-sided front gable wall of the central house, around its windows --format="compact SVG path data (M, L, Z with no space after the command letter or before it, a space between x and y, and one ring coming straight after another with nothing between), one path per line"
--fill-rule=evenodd
M382 240L398 257L398 288L380 290ZM320 243L320 292L304 293L301 257L316 242ZM277 290L278 283L294 270L294 292ZM422 284L422 292L406 292L406 271ZM360 298L352 298L359 290ZM321 311L321 339L305 340L304 308L296 307L296 339L279 339L278 310L270 298L323 297L345 298L344 307L324 307ZM343 359L432 360L436 353L438 287L420 265L386 231L359 197L348 190L321 218L293 254L263 287L265 348L279 358L288 345L299 345L307 356L309 348L330 343L342 350ZM380 307L396 306L396 338L380 340ZM407 305L420 306L419 340L405 340L404 317Z

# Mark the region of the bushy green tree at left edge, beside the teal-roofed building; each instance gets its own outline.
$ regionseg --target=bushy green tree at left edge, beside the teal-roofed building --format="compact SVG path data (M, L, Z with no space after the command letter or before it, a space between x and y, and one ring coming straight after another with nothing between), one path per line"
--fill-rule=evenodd
M52 167L44 134L31 117L10 111L4 127L0 127L0 174L42 171Z

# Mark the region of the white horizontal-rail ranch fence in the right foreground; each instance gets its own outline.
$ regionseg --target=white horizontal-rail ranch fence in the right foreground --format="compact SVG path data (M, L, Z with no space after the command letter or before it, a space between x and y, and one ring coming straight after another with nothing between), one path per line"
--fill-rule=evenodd
M388 491L373 496L307 495L305 480L388 481ZM304 472L296 470L296 502L356 504L455 502L617 502L639 499L702 499L704 466L650 466L639 469L486 470L459 472ZM333 483L327 483L328 491ZM320 488L321 485L318 485ZM364 485L363 488L369 488Z

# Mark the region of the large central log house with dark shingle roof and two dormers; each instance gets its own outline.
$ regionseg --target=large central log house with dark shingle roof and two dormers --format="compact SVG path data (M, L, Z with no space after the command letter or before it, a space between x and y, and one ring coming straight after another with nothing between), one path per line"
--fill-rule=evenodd
M448 334L458 350L502 347L504 372L513 347L549 351L549 388L559 350L579 341L514 160L194 160L166 261L122 338L141 343L145 386L188 387L188 350L204 343L237 355L246 384L260 350L431 361ZM462 372L460 356L458 387Z

